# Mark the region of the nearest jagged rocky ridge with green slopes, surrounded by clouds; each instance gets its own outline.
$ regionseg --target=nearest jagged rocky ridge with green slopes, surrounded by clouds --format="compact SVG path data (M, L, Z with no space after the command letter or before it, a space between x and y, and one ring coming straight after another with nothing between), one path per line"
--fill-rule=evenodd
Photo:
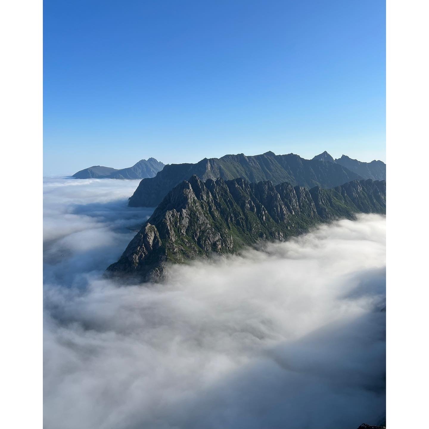
M355 213L386 212L386 182L354 180L332 189L193 175L163 199L109 275L159 280L168 262L235 253L261 239L285 240Z

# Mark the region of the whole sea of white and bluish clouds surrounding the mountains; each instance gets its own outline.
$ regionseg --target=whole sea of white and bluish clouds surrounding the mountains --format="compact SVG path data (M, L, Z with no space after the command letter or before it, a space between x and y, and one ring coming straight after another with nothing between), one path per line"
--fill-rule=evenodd
M385 218L102 277L139 181L44 183L45 429L356 429L385 410Z

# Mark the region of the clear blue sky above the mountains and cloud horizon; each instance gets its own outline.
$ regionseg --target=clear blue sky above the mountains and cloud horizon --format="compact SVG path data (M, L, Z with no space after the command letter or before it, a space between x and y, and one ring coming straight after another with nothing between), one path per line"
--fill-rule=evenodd
M385 160L381 0L44 2L44 172Z

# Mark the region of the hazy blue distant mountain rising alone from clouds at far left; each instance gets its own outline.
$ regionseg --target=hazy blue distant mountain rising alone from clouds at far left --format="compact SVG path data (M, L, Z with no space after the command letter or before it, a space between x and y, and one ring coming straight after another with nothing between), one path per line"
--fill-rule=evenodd
M122 169L94 165L78 171L73 174L73 177L76 179L143 179L154 177L164 166L165 164L155 158L149 158L148 160L140 160L132 167Z

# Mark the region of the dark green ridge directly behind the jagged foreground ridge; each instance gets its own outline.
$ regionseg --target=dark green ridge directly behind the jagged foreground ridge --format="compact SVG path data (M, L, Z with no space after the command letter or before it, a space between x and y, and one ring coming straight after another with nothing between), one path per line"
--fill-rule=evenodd
M335 187L362 178L355 172L336 164L320 160L305 160L295 154L276 155L225 155L221 158L204 158L196 164L170 164L154 178L143 179L133 196L130 207L156 207L176 185L196 175L202 180L244 178L249 182L270 180L274 185L289 182L308 188Z

